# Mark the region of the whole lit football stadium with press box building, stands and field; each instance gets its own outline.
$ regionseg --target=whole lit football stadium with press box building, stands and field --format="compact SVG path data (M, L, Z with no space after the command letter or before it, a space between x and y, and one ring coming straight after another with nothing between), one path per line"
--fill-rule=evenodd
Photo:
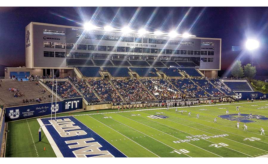
M24 35L25 66L0 79L1 157L268 157L268 93L246 66L219 75L222 38L34 21Z

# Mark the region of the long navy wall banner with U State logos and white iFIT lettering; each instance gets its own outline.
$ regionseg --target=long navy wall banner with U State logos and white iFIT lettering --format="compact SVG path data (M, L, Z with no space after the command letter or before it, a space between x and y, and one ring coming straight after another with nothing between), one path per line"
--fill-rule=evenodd
M69 112L82 108L82 98L66 99L63 101L57 101L51 106L51 103L41 103L27 106L16 106L5 108L5 120L15 121L32 117L40 117L44 115L51 115L61 112Z

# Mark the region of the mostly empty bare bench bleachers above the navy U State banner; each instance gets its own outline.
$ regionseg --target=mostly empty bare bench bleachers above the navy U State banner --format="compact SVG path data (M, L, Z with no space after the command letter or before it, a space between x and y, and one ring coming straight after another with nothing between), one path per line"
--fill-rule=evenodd
M4 104L4 107L7 106L21 106L21 105L28 105L38 103L36 100L30 101L30 99L41 98L41 103L46 101L51 101L51 98L48 95L52 95L49 91L43 88L42 85L37 81L13 81L13 80L3 80L0 86L0 99L1 102ZM22 97L14 97L16 92L10 92L9 88L18 89L24 96ZM42 90L45 90L42 93ZM28 100L29 103L23 103L22 100Z

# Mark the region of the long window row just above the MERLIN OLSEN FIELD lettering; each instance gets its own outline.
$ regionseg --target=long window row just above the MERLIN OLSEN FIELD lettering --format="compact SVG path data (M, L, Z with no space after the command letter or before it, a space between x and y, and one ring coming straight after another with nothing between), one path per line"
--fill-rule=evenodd
M174 41L174 40L152 39L152 38L149 38L149 41L148 41L148 38L133 38L133 37L98 35L98 34L89 35L89 34L77 33L76 38L82 38L82 37L84 37L85 39L106 40L106 41L194 46L193 41Z

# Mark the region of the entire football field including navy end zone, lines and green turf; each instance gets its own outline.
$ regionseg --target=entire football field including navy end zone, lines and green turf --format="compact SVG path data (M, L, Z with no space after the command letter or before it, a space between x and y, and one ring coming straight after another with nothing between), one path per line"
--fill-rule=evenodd
M241 112L239 117L236 106ZM177 113L175 109L119 112L115 109L102 113L91 111L73 116L62 115L56 121L35 118L11 122L8 123L6 157L23 154L26 157L268 156L268 137L267 134L261 135L260 131L261 127L268 129L268 102L178 107ZM227 115L226 110L229 110ZM188 116L188 112L191 112L191 116ZM249 117L250 113L253 118ZM199 118L196 118L197 114ZM258 115L259 120L256 119ZM216 123L214 118L217 118ZM30 126L29 122L32 122ZM53 126L43 126L42 141L38 142L37 131L43 124ZM244 124L247 130L244 130ZM31 145L25 146L24 150L14 140L18 134L11 131L24 128L22 126L29 126L30 129L21 132L21 136L24 136L21 141L24 143L20 144ZM47 148L45 151L44 145ZM16 154L18 148L25 152Z

